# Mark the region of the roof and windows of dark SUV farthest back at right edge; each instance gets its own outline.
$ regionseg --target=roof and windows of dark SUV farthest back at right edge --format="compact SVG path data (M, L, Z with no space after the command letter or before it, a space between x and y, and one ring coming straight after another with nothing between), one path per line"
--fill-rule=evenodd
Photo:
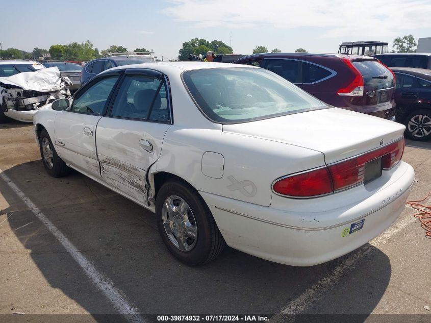
M388 67L431 69L431 53L386 53L372 55Z

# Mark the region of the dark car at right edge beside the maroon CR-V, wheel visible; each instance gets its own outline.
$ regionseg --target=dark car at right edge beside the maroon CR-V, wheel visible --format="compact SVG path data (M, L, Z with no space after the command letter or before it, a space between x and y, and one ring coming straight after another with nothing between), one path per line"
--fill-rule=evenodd
M393 67L395 73L396 120L413 140L431 139L431 70Z

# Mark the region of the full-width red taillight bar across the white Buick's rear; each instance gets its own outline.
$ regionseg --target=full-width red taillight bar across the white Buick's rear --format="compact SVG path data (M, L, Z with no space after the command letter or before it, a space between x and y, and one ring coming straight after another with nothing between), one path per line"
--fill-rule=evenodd
M369 153L277 180L274 192L292 197L316 197L364 182L365 164L382 158L382 168L395 166L404 152L404 138Z

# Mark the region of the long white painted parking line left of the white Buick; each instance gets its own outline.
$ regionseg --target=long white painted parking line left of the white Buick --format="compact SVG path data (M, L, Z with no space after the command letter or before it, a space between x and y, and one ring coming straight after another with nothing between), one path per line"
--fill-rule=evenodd
M114 305L115 309L124 315L134 316L133 321L144 323L145 320L139 315L138 311L130 305L121 293L114 287L112 282L109 281L101 272L99 272L85 256L75 247L60 230L51 222L26 196L11 179L5 175L0 169L0 177L9 185L9 187L21 198L21 200L33 211L34 215L45 225L45 227L52 233L57 240L63 245L64 249L84 270L88 278L97 286L97 288L104 293L106 298Z

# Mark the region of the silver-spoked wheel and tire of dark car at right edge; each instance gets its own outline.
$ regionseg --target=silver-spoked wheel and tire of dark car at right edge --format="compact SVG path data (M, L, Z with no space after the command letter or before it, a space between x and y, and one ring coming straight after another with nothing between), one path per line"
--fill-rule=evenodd
M412 140L428 141L431 139L431 111L415 110L405 119L405 136Z

